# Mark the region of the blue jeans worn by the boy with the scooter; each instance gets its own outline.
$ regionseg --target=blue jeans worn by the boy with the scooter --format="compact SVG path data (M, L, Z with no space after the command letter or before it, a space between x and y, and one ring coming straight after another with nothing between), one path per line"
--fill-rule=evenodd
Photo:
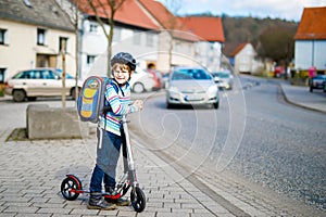
M116 165L120 156L122 138L102 128L97 129L97 164L93 168L89 191L101 192L105 187L115 187Z

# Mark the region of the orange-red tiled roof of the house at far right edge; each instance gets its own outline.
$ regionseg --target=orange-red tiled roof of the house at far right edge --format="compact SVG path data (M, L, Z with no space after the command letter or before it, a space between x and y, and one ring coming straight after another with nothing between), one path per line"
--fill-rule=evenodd
M326 7L303 10L294 39L326 39Z

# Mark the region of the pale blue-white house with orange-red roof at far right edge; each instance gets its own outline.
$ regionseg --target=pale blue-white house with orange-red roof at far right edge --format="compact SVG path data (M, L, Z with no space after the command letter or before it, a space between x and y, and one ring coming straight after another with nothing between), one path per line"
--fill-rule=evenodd
M326 72L326 7L305 8L294 36L294 67Z

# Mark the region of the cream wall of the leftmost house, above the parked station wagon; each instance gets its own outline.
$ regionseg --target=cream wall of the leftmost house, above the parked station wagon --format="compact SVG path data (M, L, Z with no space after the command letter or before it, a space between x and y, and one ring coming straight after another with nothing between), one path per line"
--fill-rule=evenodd
M66 37L67 52L66 72L75 74L75 35L70 31L45 28L46 46L37 46L37 28L38 26L27 25L11 21L1 20L0 28L7 29L7 43L1 46L0 50L0 67L7 68L5 78L11 77L17 71L35 67L37 53L58 55L59 38ZM57 67L62 67L62 59L60 55L57 60Z

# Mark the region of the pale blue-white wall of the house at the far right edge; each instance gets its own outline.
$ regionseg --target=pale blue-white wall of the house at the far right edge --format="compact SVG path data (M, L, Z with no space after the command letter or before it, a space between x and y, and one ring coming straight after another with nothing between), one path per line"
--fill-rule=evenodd
M326 40L297 40L294 48L294 66L308 69L315 66L326 69Z

